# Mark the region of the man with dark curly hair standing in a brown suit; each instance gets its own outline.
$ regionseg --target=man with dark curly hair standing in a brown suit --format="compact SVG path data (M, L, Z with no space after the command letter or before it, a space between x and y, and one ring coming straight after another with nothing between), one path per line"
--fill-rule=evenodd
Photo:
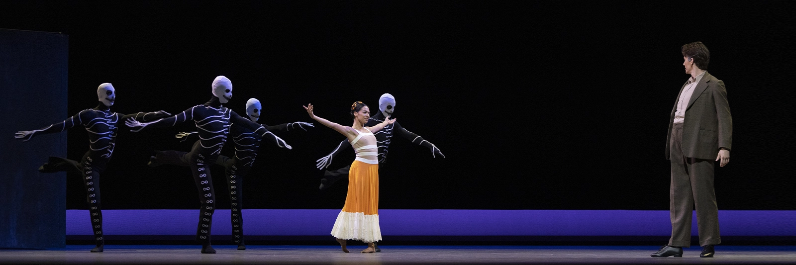
M724 82L707 72L708 48L697 41L683 45L681 53L685 73L691 78L680 88L666 138L666 158L672 166L672 237L652 256L683 255L682 247L691 246L691 213L696 208L700 257L709 258L715 253L713 245L721 243L713 163L718 161L723 167L730 162L732 116Z

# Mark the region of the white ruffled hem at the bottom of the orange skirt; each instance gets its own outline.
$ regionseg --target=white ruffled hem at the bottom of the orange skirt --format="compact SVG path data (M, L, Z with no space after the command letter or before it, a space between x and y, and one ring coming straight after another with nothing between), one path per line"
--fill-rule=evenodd
M340 211L334 221L332 236L341 240L360 240L365 243L381 240L379 215L365 215L365 212Z

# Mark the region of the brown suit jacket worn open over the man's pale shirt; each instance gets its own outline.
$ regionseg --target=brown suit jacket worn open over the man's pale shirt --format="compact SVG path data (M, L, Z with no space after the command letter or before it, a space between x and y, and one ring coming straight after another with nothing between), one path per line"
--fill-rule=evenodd
M687 82L686 82L687 83ZM685 84L680 88L683 92ZM666 159L669 159L669 143L672 141L674 112L677 101L674 100L672 114L669 117L669 131L666 132ZM732 115L727 102L727 89L724 82L704 72L704 76L696 84L688 107L685 108L683 122L683 155L686 158L715 160L721 148L732 149Z

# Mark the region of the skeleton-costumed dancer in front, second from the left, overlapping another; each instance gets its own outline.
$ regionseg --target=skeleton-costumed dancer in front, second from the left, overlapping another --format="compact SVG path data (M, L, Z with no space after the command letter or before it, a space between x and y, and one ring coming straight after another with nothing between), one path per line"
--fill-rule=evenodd
M193 173L193 181L196 182L199 190L199 224L197 225L197 240L202 244L202 253L213 254L216 250L210 245L210 228L213 223L213 212L216 208L216 195L213 191L213 179L210 176L210 165L216 162L221 148L227 142L230 123L239 124L247 127L255 134L263 138L271 135L271 139L279 147L291 149L281 138L276 137L265 127L257 123L252 123L248 119L240 117L221 103L227 103L232 98L232 81L224 76L217 76L213 80L213 97L205 104L197 105L182 111L178 115L166 119L158 119L150 123L139 123L138 121L127 119L128 127L134 128L131 131L142 131L155 127L173 127L177 123L184 123L193 120L199 129L199 141L193 144L193 149L182 156L182 161L189 164Z

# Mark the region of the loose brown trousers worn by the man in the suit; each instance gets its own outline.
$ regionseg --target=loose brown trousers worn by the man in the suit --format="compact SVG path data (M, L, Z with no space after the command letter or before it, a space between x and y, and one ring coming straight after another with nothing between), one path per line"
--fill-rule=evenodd
M669 188L669 216L672 238L669 246L691 247L691 215L696 208L696 225L700 246L721 243L719 208L713 189L712 160L686 158L682 151L683 124L672 127L669 161L672 182Z

